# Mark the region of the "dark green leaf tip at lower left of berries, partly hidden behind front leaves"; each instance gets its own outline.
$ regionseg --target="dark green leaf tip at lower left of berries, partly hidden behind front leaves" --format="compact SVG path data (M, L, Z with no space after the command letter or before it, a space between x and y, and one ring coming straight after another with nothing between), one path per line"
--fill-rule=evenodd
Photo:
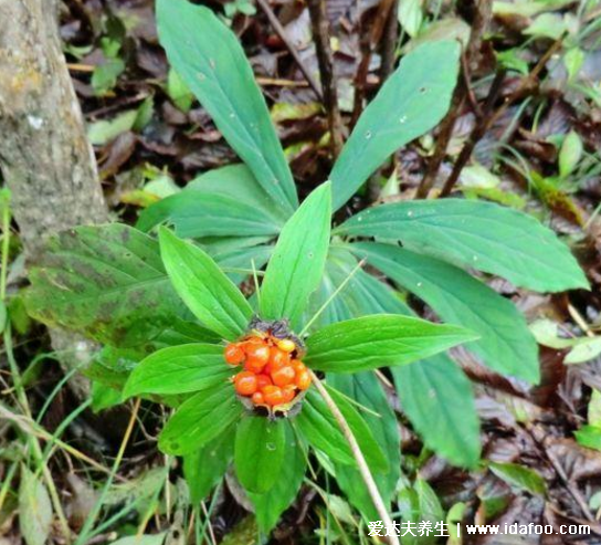
M193 504L204 500L225 474L234 455L234 438L235 426L231 426L210 444L184 454L183 476Z

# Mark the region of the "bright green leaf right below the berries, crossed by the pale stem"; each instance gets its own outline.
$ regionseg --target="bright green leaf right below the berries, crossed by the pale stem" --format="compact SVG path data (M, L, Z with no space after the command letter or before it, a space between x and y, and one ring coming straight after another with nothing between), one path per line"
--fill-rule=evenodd
M340 392L329 387L328 392L347 420L369 467L379 472L388 471L388 460L361 415ZM307 390L296 422L312 447L325 452L336 462L357 465L336 418L315 388Z

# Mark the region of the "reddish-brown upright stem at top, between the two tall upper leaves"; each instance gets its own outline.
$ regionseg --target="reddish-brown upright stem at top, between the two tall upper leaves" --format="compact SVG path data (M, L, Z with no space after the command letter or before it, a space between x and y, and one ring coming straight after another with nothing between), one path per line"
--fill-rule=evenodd
M340 117L340 108L338 107L337 78L334 71L334 54L329 44L326 3L325 0L307 0L307 6L317 53L317 63L319 65L324 105L328 115L331 154L336 158L340 149L342 149L344 144L342 118Z

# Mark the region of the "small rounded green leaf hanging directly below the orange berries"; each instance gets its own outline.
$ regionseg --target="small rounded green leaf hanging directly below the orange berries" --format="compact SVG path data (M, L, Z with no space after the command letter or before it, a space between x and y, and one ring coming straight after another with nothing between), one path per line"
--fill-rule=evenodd
M285 421L247 416L238 425L234 464L240 484L250 492L263 494L281 478L286 462Z

